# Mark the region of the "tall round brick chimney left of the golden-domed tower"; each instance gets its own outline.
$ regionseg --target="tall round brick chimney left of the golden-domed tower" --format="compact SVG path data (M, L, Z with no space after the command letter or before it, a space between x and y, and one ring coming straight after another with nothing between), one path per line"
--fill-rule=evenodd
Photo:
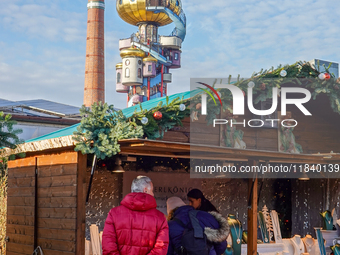
M104 0L87 4L84 105L105 102Z

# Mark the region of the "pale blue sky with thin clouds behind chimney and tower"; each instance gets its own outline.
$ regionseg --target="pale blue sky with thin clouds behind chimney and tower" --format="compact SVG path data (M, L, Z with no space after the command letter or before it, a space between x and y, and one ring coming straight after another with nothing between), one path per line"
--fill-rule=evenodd
M118 40L137 27L106 1L106 101L126 106L115 92ZM0 0L0 98L83 102L86 0ZM190 77L249 77L298 60L340 62L340 4L336 0L182 0L187 37L182 68L169 93L189 90ZM159 29L168 35L173 24Z

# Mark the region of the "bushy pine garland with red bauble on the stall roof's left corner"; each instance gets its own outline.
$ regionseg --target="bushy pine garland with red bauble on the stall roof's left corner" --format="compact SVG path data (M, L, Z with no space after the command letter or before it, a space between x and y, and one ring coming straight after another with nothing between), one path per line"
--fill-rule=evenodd
M160 102L151 110L144 110L140 105L130 118L126 118L122 111L115 111L113 105L107 103L94 103L90 108L82 106L80 113L84 116L77 131L74 132L74 140L77 141L75 151L83 154L95 154L99 159L112 157L120 152L119 140L129 138L162 138L164 132L174 126L182 125L181 120L188 117L190 110L186 107L180 110L180 104L185 103L180 98L175 98L166 104ZM156 111L162 113L162 118L156 120L153 114ZM142 124L142 118L148 118L146 124Z

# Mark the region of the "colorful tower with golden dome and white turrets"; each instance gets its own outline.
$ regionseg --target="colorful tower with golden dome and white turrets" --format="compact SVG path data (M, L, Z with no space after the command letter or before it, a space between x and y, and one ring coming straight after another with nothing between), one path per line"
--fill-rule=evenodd
M186 18L180 0L116 0L125 22L137 26L129 38L119 40L122 62L116 65L116 91L127 93L128 106L167 95L171 68L181 67L181 45ZM158 28L170 23L169 36Z

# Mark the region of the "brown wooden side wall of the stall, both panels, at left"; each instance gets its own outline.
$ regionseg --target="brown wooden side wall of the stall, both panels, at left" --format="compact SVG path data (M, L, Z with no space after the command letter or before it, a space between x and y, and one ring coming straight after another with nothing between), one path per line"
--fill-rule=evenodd
M85 231L77 232L77 213L83 211L85 228L85 202L78 189L86 186L86 179L78 173L81 158L86 171L86 156L66 151L36 156L37 179L37 245L44 254L83 254L80 245L85 239ZM35 157L11 161L8 178L8 223L7 254L32 254L34 245L35 217ZM77 200L77 195L81 199ZM77 204L78 203L78 204ZM77 237L80 245L77 246ZM84 242L84 241L83 241ZM85 243L84 243L85 247ZM77 251L77 249L79 251Z

